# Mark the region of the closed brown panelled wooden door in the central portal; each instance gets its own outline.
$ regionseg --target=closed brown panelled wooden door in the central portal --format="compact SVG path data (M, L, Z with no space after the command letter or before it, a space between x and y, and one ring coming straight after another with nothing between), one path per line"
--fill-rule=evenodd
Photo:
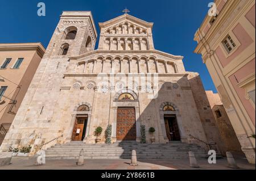
M135 109L121 107L117 109L117 140L136 140Z

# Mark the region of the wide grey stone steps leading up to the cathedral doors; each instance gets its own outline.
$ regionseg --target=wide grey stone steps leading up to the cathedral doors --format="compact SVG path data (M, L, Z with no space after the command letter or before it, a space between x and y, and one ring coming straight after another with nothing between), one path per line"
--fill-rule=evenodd
M207 152L198 145L180 141L169 144L138 144L135 141L115 144L84 144L75 141L57 144L46 150L47 159L78 159L84 149L84 159L130 159L131 151L137 151L137 159L188 159L188 151L193 151L197 159L205 159Z

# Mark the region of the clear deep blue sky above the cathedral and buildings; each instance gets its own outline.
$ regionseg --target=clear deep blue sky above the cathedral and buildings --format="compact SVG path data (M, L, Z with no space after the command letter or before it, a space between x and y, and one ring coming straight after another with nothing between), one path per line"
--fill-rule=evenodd
M213 0L1 0L0 43L42 42L47 47L62 11L92 11L97 32L98 23L122 15L127 7L130 15L154 23L155 49L184 56L187 71L200 73L205 90L216 89L203 64L201 55L193 53L193 37ZM38 16L38 3L46 4L46 16ZM97 48L97 45L96 45Z

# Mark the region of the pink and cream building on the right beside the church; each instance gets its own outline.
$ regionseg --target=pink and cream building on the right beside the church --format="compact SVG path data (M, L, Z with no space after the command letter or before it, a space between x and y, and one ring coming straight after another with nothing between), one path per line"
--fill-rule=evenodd
M250 163L255 163L255 1L216 0L196 31L214 85Z

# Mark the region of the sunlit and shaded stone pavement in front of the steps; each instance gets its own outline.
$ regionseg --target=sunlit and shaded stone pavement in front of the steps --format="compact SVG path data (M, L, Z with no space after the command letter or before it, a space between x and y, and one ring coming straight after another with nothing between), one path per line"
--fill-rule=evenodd
M10 165L0 167L0 170L226 170L228 163L225 158L217 159L216 164L208 161L197 161L199 169L189 166L188 160L170 159L146 159L139 160L138 166L130 166L129 159L86 159L83 166L77 166L76 160L46 160L46 165L34 165L34 159L25 157L14 157ZM255 165L247 163L246 159L237 159L240 169L255 170Z

